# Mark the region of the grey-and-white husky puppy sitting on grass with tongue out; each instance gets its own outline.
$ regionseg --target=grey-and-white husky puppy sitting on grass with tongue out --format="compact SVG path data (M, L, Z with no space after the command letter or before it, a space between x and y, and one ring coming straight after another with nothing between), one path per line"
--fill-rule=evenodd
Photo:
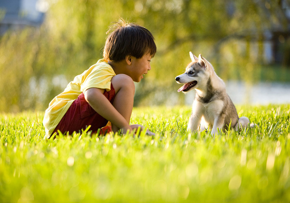
M189 118L188 130L205 130L211 128L215 135L219 129L228 128L229 124L238 128L245 128L249 124L247 117L238 117L237 110L226 93L224 81L215 73L213 66L200 54L197 58L189 52L191 63L185 73L178 75L177 83L184 84L178 92L184 93L195 89L195 99Z

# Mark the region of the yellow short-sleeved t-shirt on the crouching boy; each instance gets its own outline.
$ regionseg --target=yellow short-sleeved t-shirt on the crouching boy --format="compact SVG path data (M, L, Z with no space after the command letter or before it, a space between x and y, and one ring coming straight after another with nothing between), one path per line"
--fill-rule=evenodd
M111 79L115 75L113 68L104 59L100 59L88 70L84 71L84 73L77 75L64 91L49 103L43 119L46 132L44 138L50 137L70 105L81 93L89 88L100 88L110 91Z

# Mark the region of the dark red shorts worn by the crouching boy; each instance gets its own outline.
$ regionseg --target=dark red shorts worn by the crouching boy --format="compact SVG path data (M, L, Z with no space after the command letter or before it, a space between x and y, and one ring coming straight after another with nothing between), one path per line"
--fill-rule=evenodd
M103 95L110 101L110 103L113 103L115 98L115 89L112 83L111 90L108 92L105 90ZM90 131L97 132L99 128L102 128L100 134L105 134L112 131L111 126L106 126L107 123L108 120L100 116L88 104L84 97L84 93L81 93L70 106L64 117L62 117L53 133L57 132L57 130L61 131L63 134L66 132L71 134L74 131L78 133L81 129L85 130L87 126L91 125L89 129Z

